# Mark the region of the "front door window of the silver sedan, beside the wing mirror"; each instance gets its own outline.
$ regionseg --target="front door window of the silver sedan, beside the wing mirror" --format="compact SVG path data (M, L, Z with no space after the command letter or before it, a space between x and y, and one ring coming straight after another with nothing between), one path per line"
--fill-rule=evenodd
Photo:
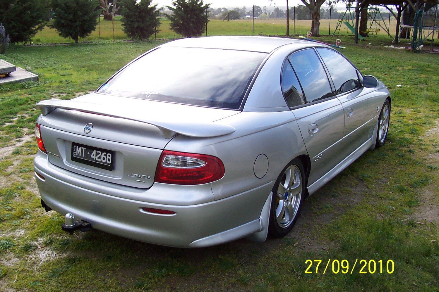
M335 93L344 93L360 87L356 68L334 50L317 48L335 85Z

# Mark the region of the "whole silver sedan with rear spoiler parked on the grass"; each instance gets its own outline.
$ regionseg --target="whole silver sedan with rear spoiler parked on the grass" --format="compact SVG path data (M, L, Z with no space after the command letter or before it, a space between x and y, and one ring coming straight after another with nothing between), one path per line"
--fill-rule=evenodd
M179 39L94 93L36 105L41 203L70 233L178 247L281 237L306 197L384 144L390 106L384 84L324 44Z

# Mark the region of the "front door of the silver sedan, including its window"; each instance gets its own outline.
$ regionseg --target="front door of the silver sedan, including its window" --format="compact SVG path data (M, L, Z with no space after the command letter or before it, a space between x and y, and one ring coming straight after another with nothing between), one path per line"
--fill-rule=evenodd
M373 135L374 94L363 88L356 68L342 54L327 48L317 48L331 76L335 94L344 111L343 158L359 148Z

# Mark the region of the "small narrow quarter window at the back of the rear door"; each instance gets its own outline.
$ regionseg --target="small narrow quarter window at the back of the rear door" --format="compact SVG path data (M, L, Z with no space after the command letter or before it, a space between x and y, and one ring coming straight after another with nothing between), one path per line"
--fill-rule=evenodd
M299 80L297 80L296 74L288 60L285 61L284 68L282 69L281 86L288 107L291 108L305 103Z

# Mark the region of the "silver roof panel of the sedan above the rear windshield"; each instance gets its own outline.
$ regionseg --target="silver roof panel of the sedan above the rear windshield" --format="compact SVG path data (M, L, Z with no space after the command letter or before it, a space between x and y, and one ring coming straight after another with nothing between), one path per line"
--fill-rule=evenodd
M207 36L201 38L177 39L165 43L168 47L192 47L224 50L243 50L270 53L280 46L291 43L304 43L300 39L267 36ZM309 42L307 42L309 43Z

